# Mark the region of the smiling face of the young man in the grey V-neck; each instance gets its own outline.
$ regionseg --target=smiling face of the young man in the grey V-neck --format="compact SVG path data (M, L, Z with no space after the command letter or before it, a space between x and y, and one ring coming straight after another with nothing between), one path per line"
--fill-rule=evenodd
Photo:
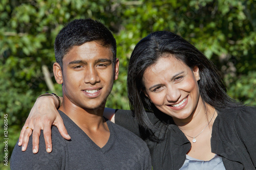
M82 109L104 107L113 81L118 78L119 61L113 63L111 48L97 41L74 46L62 59L61 79L63 98ZM65 102L66 104L66 102Z

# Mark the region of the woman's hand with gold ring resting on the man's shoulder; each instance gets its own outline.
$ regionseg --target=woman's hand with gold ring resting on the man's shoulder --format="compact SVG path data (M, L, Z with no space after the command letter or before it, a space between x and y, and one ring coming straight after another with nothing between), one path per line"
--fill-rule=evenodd
M60 100L62 100L62 98L60 98ZM48 153L52 152L52 125L58 128L63 138L67 140L70 139L63 124L63 120L56 109L57 107L58 100L55 96L41 96L36 100L19 135L18 145L22 145L22 151L27 149L29 136L33 133L33 153L37 153L40 131L44 130L46 150ZM33 131L30 128L33 129Z

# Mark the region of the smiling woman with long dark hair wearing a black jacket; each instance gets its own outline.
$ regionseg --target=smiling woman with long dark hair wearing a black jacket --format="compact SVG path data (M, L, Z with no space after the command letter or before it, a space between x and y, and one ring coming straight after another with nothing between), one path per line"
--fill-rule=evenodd
M131 56L127 88L132 112L117 110L115 123L146 141L153 169L255 168L255 108L230 99L216 67L180 36L163 31L143 38ZM39 103L33 113L47 110ZM49 114L44 121L60 126L56 111ZM49 131L49 123L35 126L36 117L25 123L20 145L32 133L27 126L33 136Z

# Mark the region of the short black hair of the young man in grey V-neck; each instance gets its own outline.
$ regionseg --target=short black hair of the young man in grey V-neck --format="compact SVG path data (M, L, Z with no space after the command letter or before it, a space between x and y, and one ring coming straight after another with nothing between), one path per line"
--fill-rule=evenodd
M116 40L108 28L93 19L75 19L62 28L55 38L54 52L56 62L62 68L62 59L73 46L98 41L104 47L110 47L113 62L116 60Z

